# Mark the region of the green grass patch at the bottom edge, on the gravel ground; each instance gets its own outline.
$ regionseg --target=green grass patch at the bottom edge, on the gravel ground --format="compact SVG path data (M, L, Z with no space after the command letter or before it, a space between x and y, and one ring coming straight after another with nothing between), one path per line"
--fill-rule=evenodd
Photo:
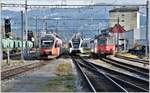
M42 86L42 92L73 92L75 91L75 78L73 75L64 75L51 78Z

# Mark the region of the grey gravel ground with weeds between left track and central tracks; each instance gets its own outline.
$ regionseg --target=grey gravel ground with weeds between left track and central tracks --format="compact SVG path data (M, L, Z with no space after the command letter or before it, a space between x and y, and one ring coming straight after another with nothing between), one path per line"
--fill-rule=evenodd
M76 86L78 85L78 83L75 76L76 71L74 70L71 59L59 58L50 60L49 62L50 63L48 65L45 65L43 67L36 68L31 71L14 76L10 79L1 81L2 92L77 91ZM66 66L64 67L65 69L60 64Z

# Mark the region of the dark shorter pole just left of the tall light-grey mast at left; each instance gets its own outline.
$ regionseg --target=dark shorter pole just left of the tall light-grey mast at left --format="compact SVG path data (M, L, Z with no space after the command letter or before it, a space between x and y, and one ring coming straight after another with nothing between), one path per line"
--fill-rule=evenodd
M23 11L21 11L21 61L22 62L24 62L23 40L24 40L24 21L23 21Z

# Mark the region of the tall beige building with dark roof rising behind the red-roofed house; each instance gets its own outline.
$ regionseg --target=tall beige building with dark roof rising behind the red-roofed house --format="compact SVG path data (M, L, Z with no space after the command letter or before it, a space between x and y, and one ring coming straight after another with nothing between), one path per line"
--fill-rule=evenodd
M126 31L140 28L140 13L137 7L121 7L110 10L109 27L117 24L118 18L119 24L124 26Z

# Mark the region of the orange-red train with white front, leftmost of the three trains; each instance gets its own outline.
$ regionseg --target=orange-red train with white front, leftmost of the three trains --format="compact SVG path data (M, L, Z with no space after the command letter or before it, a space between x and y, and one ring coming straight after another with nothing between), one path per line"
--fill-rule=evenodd
M55 34L47 34L41 38L40 56L55 58L61 54L62 40Z

